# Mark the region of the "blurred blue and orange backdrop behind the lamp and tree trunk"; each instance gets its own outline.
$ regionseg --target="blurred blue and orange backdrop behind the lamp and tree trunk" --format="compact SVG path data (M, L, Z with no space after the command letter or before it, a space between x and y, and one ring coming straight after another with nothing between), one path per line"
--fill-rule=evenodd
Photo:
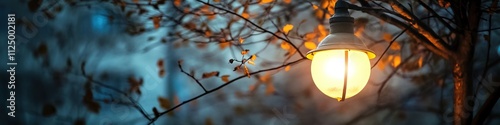
M348 1L360 5L356 0ZM444 39L455 34L421 3L401 0ZM442 0L423 1L452 18ZM343 102L321 93L301 60L328 35L335 1L321 0L19 0L1 1L16 14L16 117L6 125L148 124L452 124L450 62L404 29L358 10L355 35L374 50L365 88ZM370 1L389 8L383 1ZM496 5L484 1L483 8ZM448 5L450 6L450 5ZM500 27L482 12L479 29ZM430 17L427 19L426 17ZM6 24L6 19L1 19ZM491 22L491 25L489 25ZM451 23L450 23L451 24ZM285 25L292 25L284 31ZM455 26L455 25L453 25ZM7 39L2 28L2 39ZM286 32L286 33L285 33ZM4 35L5 34L5 35ZM479 32L472 78L474 115L500 86L498 30ZM486 37L486 35L488 35ZM287 38L297 46L280 38ZM488 44L489 43L489 44ZM5 44L3 44L5 45ZM0 60L7 62L2 45ZM387 50L386 50L387 49ZM248 51L246 51L248 50ZM385 52L386 51L386 52ZM242 54L245 52L245 54ZM384 56L379 56L385 53ZM242 60L252 60L242 63ZM229 61L233 60L233 61ZM485 61L488 60L488 61ZM266 69L278 67L275 70ZM182 71L181 71L182 68ZM8 81L2 64L1 81ZM249 75L247 72L266 70ZM486 70L486 71L484 71ZM483 73L484 72L484 73ZM239 78L240 76L249 76ZM232 82L231 80L237 79ZM4 84L5 85L5 84ZM2 99L9 98L1 87ZM4 102L6 105L8 102ZM156 110L156 111L155 111ZM156 119L155 119L156 120ZM485 124L500 122L495 104Z

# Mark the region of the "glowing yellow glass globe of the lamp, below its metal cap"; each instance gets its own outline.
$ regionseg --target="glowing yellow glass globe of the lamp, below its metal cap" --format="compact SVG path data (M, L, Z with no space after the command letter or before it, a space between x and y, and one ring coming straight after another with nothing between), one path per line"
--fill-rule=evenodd
M341 99L344 88L346 50L314 53L311 74L316 87L332 98ZM370 78L370 60L362 51L348 50L347 89L345 98L358 94Z

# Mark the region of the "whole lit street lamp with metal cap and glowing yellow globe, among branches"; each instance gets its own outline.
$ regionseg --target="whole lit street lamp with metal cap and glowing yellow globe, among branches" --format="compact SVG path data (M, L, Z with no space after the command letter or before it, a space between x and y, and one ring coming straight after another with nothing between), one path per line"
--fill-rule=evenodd
M358 94L370 78L370 60L375 53L354 36L354 18L348 4L335 5L330 18L330 34L314 50L307 53L312 60L311 74L316 87L325 95L343 101Z

